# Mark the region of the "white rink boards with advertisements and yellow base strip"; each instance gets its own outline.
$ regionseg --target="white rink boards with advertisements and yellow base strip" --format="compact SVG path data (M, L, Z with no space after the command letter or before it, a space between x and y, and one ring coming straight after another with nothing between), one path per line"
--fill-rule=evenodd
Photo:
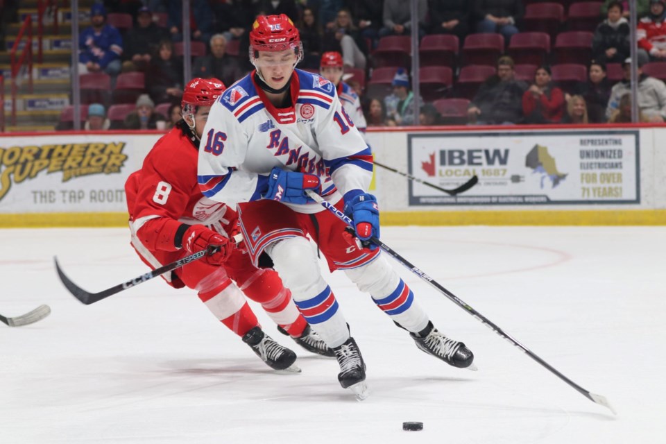
M0 135L0 227L123 226L123 185L162 133ZM665 225L666 128L368 130L387 225ZM450 196L477 176L472 189Z

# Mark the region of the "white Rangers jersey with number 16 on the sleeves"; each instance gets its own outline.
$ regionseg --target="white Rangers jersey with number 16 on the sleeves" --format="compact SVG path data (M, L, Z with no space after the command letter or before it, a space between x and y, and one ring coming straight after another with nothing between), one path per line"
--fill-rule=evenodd
M202 193L228 205L257 200L273 167L316 174L331 203L352 189L367 191L373 157L334 85L296 69L291 107L275 108L254 74L230 86L210 110L198 155ZM302 213L323 210L317 203L287 205Z

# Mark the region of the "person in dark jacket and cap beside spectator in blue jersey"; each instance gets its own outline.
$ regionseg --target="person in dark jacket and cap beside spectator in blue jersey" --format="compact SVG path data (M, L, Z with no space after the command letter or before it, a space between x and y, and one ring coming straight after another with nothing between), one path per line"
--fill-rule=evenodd
M167 30L153 22L153 12L144 7L137 12L137 26L125 35L123 72L146 71L160 41L168 37Z

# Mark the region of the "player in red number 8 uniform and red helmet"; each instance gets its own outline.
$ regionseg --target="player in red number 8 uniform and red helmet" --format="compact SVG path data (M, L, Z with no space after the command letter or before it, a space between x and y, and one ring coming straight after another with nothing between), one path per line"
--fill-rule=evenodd
M240 289L261 303L281 331L307 350L328 356L332 350L298 313L278 274L256 268L243 250L234 248L229 235L237 230L236 212L203 196L197 184L201 131L210 105L223 91L224 85L217 79L191 80L182 96L182 119L157 141L142 169L128 178L125 189L132 245L153 269L215 247L214 253L163 277L173 287L195 289L212 314L241 336L268 366L297 369L292 367L296 355L263 332Z

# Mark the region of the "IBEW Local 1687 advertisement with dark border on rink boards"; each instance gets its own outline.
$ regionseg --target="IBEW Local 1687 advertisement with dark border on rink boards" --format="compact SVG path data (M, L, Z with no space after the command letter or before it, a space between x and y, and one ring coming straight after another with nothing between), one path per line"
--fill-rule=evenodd
M407 136L409 205L640 203L637 130L440 133Z

